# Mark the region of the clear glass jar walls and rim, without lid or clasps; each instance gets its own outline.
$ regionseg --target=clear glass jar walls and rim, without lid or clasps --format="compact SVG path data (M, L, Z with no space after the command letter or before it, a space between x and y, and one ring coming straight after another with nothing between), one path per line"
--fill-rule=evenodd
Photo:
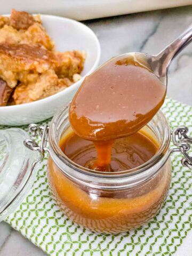
M59 141L69 125L66 108L54 116L49 129L48 177L62 212L101 233L137 228L154 217L165 200L171 177L171 134L163 113L159 111L142 129L158 142L155 156L135 169L116 173L88 170L62 152Z

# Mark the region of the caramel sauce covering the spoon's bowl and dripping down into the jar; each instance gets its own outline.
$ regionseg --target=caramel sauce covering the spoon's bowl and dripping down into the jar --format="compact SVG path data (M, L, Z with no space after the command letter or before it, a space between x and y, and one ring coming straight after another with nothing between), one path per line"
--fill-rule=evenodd
M94 141L92 169L107 171L111 146L146 125L162 106L166 88L137 54L113 58L84 79L70 105L75 133Z

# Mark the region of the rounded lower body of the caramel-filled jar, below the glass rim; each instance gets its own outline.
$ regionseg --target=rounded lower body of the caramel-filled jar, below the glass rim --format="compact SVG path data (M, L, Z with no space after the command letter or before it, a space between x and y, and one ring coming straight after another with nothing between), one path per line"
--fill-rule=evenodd
M140 186L124 190L91 189L68 179L51 158L48 178L61 211L71 220L101 233L137 228L161 208L169 189L171 163Z

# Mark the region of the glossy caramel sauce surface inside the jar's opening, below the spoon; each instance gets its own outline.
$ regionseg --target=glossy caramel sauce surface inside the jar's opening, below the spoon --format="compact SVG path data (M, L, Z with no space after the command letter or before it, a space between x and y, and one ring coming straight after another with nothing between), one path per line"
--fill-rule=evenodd
M60 147L65 155L78 165L89 169L98 170L98 162L103 161L98 158L94 143L82 139L74 133L72 129L64 133L60 140ZM119 172L129 170L146 163L157 151L157 142L149 138L144 132L137 132L128 137L118 138L113 145L109 143L111 160L110 164L99 171ZM103 148L101 148L103 150ZM106 155L106 151L103 153ZM105 157L103 157L105 166Z

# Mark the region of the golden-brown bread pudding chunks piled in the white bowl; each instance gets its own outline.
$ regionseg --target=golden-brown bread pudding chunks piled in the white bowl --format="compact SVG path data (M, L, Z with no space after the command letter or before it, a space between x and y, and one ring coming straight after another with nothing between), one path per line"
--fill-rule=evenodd
M81 79L85 53L58 52L40 15L0 16L0 106L49 97Z

